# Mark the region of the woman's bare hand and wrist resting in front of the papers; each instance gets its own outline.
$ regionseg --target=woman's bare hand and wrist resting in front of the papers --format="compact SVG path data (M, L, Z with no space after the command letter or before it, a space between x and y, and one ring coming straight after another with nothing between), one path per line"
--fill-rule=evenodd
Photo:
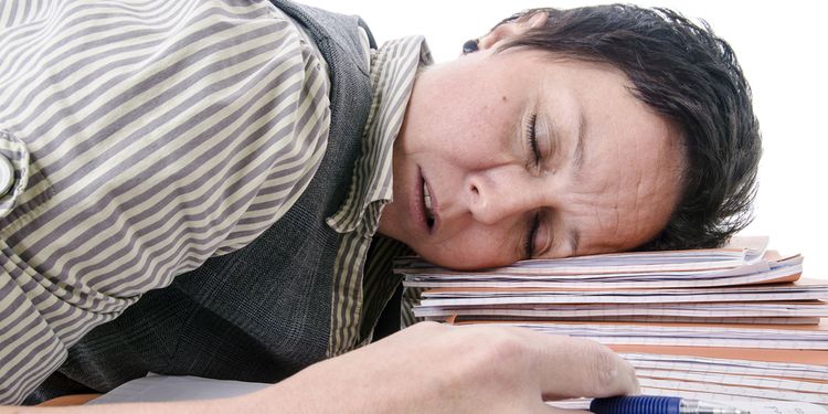
M629 363L594 341L423 322L245 403L285 413L555 413L544 400L637 392Z

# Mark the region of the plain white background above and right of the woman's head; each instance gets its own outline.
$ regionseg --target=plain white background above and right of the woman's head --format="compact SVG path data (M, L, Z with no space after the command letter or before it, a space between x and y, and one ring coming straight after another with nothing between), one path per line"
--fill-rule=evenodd
M378 43L423 34L437 63L456 57L463 43L501 19L532 7L570 8L584 1L305 0L322 9L360 14ZM635 1L703 18L739 56L753 88L764 137L756 220L745 234L771 236L771 247L805 255L805 277L828 279L826 178L828 105L822 55L828 35L821 2Z

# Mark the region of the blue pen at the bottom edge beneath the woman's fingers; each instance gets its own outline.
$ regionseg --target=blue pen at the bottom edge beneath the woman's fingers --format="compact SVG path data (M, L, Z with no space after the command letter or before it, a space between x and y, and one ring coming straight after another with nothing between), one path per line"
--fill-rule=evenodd
M595 414L750 414L750 411L678 396L630 395L595 399Z

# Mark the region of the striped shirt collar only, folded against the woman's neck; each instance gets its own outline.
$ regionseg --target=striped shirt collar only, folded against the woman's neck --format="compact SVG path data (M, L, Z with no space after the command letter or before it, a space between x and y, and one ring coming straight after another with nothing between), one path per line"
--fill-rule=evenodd
M362 155L354 164L348 198L327 221L337 232L359 230L367 237L376 232L382 208L393 198L394 139L417 70L431 63L423 36L392 40L371 50L371 109L362 134Z

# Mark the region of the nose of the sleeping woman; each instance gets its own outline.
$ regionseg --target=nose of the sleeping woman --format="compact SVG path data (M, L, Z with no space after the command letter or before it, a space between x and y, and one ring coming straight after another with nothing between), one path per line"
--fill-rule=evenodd
M495 224L544 204L542 180L520 166L471 172L465 182L468 210L475 220Z

